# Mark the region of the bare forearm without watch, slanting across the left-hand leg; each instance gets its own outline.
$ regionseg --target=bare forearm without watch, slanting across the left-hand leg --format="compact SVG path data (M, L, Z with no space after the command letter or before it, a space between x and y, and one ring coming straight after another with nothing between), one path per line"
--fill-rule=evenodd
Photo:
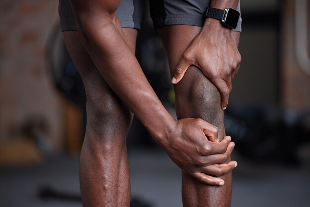
M155 140L161 142L160 139L174 127L175 121L143 74L116 17L104 12L76 16L81 40L105 81Z

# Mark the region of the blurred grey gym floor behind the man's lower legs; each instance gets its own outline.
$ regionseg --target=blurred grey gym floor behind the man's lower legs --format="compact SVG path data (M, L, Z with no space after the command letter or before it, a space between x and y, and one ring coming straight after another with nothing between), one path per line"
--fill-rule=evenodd
M232 207L310 207L310 159L298 168L252 163L234 155ZM182 207L181 173L158 150L130 150L132 197L152 207ZM50 186L71 200L40 200ZM0 168L0 207L81 207L78 158L59 156L42 165Z

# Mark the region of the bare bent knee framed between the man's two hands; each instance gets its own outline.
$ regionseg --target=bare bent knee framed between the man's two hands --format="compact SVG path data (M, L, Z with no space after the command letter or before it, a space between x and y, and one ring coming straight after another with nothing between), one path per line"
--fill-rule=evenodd
M199 68L190 66L175 90L179 115L203 118L216 126L222 124L220 93Z

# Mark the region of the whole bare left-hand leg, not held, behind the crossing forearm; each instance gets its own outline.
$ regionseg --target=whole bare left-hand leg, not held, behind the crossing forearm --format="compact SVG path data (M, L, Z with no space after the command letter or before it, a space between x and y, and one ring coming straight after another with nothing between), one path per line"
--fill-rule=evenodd
M123 31L134 51L137 31ZM87 127L80 158L83 206L129 207L130 180L125 141L132 113L106 84L81 44L77 31L67 31L63 35L87 95Z

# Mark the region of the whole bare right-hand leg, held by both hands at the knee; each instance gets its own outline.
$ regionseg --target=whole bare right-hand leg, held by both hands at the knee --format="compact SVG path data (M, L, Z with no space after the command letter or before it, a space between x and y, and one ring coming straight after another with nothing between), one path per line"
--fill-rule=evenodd
M200 31L200 27L188 25L173 25L158 29L168 54L171 74L183 52ZM174 88L178 118L192 117L206 120L218 127L221 140L225 135L225 129L223 110L220 107L220 94L216 87L197 67L190 66L181 82ZM221 178L225 181L225 185L215 187L205 185L183 173L183 205L185 207L230 206L231 173Z

